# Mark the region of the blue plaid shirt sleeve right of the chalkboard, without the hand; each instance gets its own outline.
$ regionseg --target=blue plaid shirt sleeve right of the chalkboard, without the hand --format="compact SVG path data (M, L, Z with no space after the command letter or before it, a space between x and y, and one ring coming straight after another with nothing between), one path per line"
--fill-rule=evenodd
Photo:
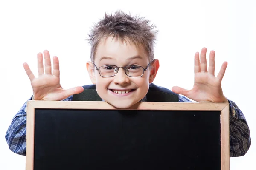
M179 95L179 102L192 102ZM235 102L228 99L230 105L230 157L243 156L250 148L251 138L247 121Z

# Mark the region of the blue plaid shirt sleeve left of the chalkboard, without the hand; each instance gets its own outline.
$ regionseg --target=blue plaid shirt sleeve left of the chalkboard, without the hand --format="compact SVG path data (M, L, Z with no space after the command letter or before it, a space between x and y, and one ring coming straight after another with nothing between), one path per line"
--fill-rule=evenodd
M31 100L32 97L29 99ZM69 96L64 101L71 101L73 96ZM12 119L11 125L6 132L6 142L12 152L19 155L26 155L26 107L27 100Z

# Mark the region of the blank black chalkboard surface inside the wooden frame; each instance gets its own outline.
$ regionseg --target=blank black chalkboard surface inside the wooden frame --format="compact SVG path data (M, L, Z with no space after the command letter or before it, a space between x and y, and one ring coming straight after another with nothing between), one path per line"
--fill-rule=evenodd
M34 170L220 170L220 113L35 109Z

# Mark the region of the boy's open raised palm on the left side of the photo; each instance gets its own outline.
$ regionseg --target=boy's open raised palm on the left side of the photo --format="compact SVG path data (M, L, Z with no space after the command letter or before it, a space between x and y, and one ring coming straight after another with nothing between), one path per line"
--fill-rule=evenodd
M63 100L68 96L84 91L84 88L81 86L68 90L64 90L61 87L58 57L53 57L53 71L49 51L44 51L45 67L43 64L43 54L38 53L37 58L38 77L34 76L26 62L23 64L32 85L34 100Z

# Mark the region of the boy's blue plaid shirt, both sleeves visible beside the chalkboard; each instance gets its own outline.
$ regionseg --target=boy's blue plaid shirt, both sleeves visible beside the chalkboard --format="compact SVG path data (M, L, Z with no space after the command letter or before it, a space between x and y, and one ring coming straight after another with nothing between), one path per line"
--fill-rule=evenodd
M32 98L30 98L32 99ZM65 101L72 101L73 96L69 96ZM147 99L144 97L141 102ZM179 95L179 102L192 102L185 96ZM237 105L228 100L230 104L230 157L243 156L250 147L250 130L244 114ZM12 119L12 123L6 132L6 141L10 150L20 155L26 155L26 105Z

